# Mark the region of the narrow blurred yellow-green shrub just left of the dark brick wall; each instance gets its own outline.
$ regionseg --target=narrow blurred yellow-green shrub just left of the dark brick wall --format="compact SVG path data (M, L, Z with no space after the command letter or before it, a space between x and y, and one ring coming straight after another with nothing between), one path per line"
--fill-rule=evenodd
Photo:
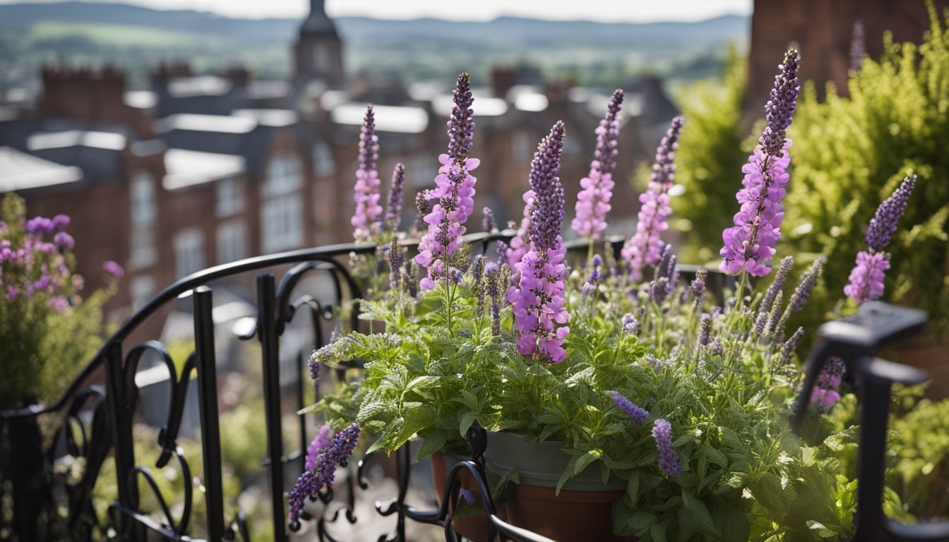
M682 261L708 262L716 257L721 232L732 225L738 210L735 191L740 186L745 135L739 128L747 78L745 61L735 47L720 79L703 81L685 91L685 124L676 154L676 180L685 194L672 198L672 227L683 232ZM679 217L677 220L676 217Z

